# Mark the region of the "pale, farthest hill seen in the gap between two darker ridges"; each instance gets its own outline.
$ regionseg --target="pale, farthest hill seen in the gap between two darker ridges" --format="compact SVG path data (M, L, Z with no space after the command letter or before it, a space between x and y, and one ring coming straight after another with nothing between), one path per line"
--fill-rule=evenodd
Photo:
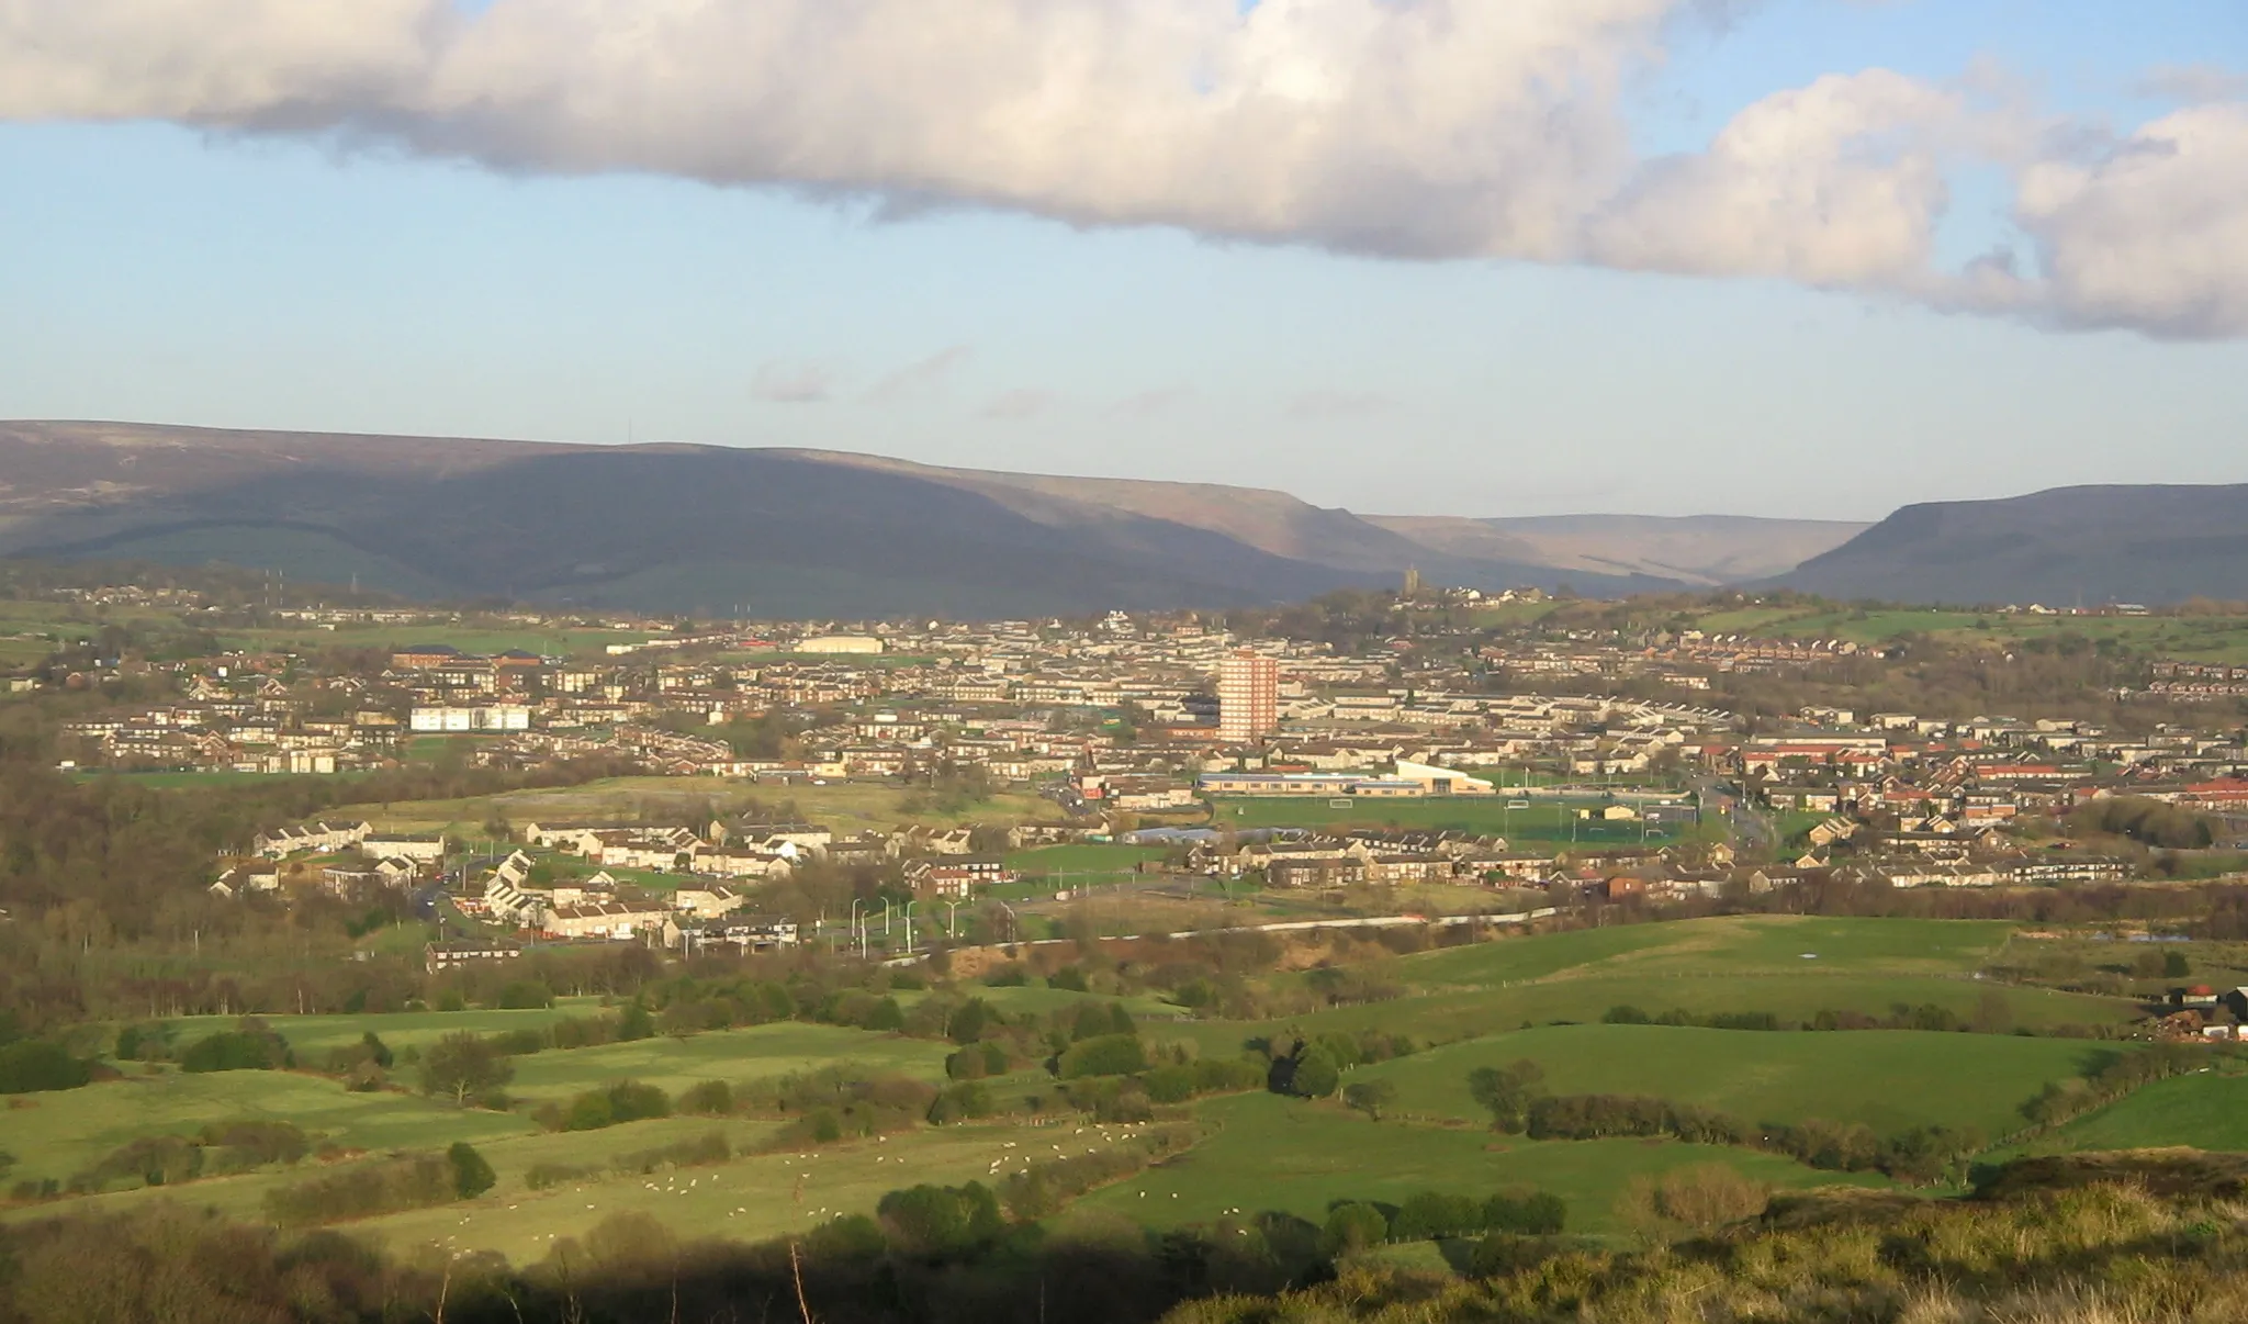
M1744 515L1540 515L1457 519L1369 515L1401 537L1454 557L1504 557L1592 575L1650 575L1686 584L1738 584L1785 573L1864 533L1839 519Z

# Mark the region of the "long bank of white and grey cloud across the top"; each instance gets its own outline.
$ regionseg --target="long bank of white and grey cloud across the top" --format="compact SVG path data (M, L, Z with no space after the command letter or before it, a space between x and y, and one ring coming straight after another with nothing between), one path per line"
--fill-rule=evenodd
M2248 106L2131 133L1886 70L1641 160L1706 0L0 0L0 117L324 133L506 171L973 205L1401 259L1873 290L2248 335ZM2167 74L2176 83L2178 76ZM2217 97L2217 99L2210 99ZM2021 252L1938 263L1960 164Z

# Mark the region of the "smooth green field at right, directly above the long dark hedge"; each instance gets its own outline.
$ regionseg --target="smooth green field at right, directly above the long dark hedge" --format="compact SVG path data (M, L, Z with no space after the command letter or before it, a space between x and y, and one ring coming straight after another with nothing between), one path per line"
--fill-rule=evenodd
M2100 1048L2070 1039L1994 1034L1751 1032L1675 1025L1553 1025L1434 1048L1351 1079L1387 1079L1398 1113L1481 1119L1468 1072L1531 1059L1556 1095L1655 1095L1744 1122L1976 1126L2003 1135L2046 1086L2084 1074Z

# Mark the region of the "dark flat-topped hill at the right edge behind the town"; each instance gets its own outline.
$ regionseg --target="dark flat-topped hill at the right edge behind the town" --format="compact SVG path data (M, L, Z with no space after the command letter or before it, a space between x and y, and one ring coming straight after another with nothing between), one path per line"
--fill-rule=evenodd
M1774 578L1900 602L2248 598L2248 486L2055 488L1906 506Z

